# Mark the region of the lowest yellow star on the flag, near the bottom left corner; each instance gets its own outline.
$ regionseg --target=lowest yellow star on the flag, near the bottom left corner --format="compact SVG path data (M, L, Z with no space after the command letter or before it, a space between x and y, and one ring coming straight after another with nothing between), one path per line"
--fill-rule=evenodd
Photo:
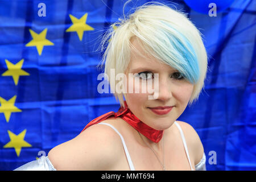
M8 130L10 142L6 143L3 148L14 148L17 156L19 156L22 147L31 147L31 144L24 140L27 130L23 130L20 134L15 135L13 132Z

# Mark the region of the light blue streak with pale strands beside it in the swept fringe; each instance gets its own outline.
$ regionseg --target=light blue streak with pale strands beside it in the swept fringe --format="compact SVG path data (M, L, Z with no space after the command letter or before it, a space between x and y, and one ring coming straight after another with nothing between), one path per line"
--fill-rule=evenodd
M163 44L153 44L152 48L164 63L177 69L185 79L195 84L200 77L199 62L195 49L183 34L167 23L163 23L166 26L159 28L157 33L159 41ZM171 29L174 34L168 33L168 29Z

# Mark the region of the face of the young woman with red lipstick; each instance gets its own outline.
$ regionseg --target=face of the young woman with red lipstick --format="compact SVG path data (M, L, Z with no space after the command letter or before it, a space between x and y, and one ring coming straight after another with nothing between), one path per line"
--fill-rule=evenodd
M179 118L187 107L193 91L193 85L185 80L174 68L152 57L148 57L143 52L141 46L139 46L137 39L131 39L131 44L147 59L131 51L130 63L126 70L126 89L133 90L133 92L129 91L125 94L127 105L133 114L146 125L156 130L166 130ZM135 76L131 77L129 73ZM135 73L138 74L136 75ZM147 73L152 73L152 78ZM154 73L158 73L158 80L157 77L154 77ZM145 83L149 81L152 81L154 93L150 93L148 90L146 93L142 93L145 85L148 86ZM155 84L156 81L158 81L158 85ZM139 90L139 93L135 93L136 89ZM148 99L148 96L152 97L154 94L158 96L156 99ZM165 106L169 107L166 109L154 108Z

